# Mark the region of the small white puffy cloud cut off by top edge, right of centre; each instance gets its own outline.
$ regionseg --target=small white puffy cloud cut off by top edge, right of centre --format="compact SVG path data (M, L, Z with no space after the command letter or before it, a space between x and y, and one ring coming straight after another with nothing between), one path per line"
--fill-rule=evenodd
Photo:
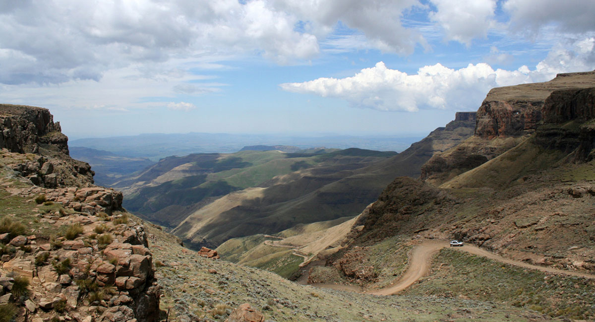
M444 29L445 40L456 40L466 45L475 38L486 37L494 26L496 0L431 0L437 11L430 18Z

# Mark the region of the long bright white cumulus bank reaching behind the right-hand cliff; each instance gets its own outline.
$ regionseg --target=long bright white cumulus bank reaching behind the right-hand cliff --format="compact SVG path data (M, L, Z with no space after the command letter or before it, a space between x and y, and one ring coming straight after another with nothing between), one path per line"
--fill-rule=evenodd
M534 70L494 70L486 63L469 64L458 70L441 64L407 74L387 68L384 62L343 79L320 78L303 83L284 83L281 89L341 98L353 107L381 111L424 109L476 110L488 90L497 86L545 82L556 73L592 70L595 38L560 43Z

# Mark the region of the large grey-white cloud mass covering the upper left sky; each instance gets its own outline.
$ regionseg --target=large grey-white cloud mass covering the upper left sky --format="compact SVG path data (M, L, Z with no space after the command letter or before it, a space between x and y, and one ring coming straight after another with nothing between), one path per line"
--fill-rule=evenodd
M35 17L35 18L32 18ZM286 63L317 37L264 0L20 1L0 7L0 83L99 80L107 70L202 55L259 52Z

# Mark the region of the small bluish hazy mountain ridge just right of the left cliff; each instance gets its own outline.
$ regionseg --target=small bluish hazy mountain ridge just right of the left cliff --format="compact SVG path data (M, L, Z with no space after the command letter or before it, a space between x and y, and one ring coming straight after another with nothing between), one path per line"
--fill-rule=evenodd
M148 158L124 157L109 151L102 151L82 146L71 146L70 155L89 163L95 171L95 183L102 186L111 186L121 177L142 170L155 162Z

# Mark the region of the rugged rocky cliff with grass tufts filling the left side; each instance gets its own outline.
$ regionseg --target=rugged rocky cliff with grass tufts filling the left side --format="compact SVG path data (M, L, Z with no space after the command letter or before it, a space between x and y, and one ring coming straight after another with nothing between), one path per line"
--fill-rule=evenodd
M0 308L8 320L159 320L142 221L45 108L0 105Z

